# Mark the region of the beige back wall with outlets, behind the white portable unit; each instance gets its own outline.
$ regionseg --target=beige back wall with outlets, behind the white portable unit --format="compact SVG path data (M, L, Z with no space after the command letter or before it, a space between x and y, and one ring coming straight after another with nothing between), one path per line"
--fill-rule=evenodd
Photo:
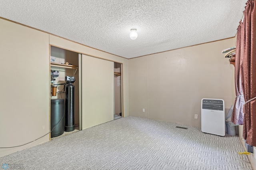
M200 127L202 98L224 99L227 114L234 66L221 51L233 46L230 38L129 59L130 115Z

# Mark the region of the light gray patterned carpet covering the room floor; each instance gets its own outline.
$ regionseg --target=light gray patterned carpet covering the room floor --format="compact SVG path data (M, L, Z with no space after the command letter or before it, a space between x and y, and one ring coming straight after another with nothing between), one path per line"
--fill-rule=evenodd
M26 170L251 170L241 151L238 136L124 117L1 157L0 163Z

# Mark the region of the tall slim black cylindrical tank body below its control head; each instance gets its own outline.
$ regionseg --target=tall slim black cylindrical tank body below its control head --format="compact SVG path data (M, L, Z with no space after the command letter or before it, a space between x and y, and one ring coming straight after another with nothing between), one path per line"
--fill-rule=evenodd
M66 81L67 82L67 81ZM71 83L66 85L65 88L65 131L70 132L75 130L74 119L74 85Z

